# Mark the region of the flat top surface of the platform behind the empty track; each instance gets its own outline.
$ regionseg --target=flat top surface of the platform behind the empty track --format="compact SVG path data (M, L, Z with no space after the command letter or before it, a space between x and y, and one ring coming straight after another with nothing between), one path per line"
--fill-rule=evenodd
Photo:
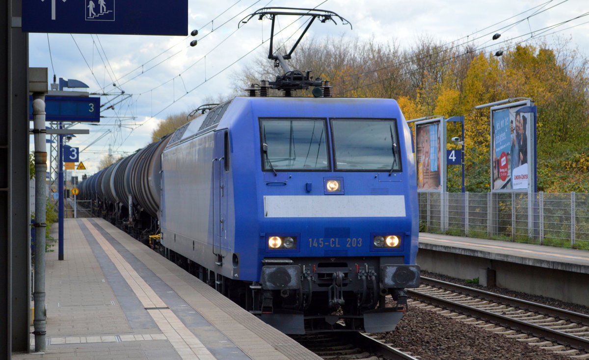
M589 274L589 251L489 239L419 234L419 248Z

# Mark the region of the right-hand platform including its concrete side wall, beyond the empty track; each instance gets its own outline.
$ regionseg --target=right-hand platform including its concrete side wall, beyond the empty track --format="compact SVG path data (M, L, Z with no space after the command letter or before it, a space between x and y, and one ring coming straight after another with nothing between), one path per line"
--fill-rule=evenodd
M425 271L589 306L586 250L422 232L416 262Z

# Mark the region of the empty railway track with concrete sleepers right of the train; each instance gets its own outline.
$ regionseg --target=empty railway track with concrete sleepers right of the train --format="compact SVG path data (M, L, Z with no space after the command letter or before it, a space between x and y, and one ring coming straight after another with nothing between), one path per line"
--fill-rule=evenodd
M588 315L431 278L422 277L421 284L409 290L409 296L439 306L442 315L560 354L589 358ZM410 305L425 306L419 302Z

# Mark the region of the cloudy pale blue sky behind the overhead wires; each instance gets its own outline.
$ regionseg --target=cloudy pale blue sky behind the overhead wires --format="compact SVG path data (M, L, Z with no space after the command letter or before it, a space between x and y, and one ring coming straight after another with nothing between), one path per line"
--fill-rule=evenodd
M150 142L160 119L191 111L207 97L231 94L232 75L267 52L264 41L270 35L269 20L254 18L238 29L239 21L264 6L293 5L284 0L188 0L188 32L198 29L195 37L30 34L29 66L47 67L49 82L55 74L84 82L92 93L110 94L101 102L111 101L114 109L102 111L107 117L98 126L75 126L89 128L91 134L70 143L82 150L108 132L80 155L90 175L109 147L115 156L130 154ZM502 41L536 41L548 35L548 41L554 36L570 39L581 52L589 48L587 0L299 0L296 6L330 10L353 25L350 30L339 21L317 22L307 33L316 38L346 36L409 47L421 36L431 36L443 42L472 40L495 52L505 46ZM282 32L275 41L281 44L300 32L303 21L295 19L279 18L276 26ZM495 32L501 38L492 41ZM198 44L191 47L193 39ZM124 96L115 98L121 90Z

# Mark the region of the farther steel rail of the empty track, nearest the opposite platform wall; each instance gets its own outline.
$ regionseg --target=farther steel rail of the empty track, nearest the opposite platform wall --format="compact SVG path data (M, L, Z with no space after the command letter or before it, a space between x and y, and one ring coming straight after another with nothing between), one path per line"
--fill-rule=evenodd
M543 315L550 315L562 320L589 326L589 315L580 314L578 312L559 309L544 304L538 304L537 302L512 298L511 296L499 295L480 289L469 288L468 286L452 284L451 282L441 281L438 279L426 278L425 276L421 277L421 284L435 286L436 288L446 289L449 291L455 291L464 295L477 296L478 298L484 298L485 300L497 302L498 304L509 305L513 306L514 308L524 309L531 312L540 312Z

